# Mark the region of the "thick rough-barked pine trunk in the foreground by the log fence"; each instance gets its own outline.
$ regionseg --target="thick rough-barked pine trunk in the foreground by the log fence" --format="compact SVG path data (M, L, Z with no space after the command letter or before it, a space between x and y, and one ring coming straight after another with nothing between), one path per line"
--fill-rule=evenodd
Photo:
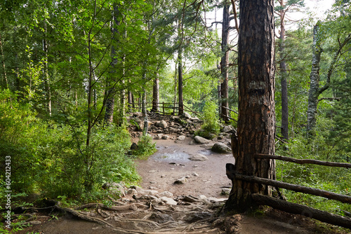
M275 179L275 161L254 153L274 154L273 0L241 0L239 26L239 121L234 171ZM271 195L270 186L232 179L225 210L243 212L251 194Z

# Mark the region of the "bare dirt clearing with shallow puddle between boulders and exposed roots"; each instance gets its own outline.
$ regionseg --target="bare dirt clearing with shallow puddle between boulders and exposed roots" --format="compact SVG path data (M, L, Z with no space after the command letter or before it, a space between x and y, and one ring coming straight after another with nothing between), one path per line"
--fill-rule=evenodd
M225 198L223 187L231 181L225 175L225 164L233 163L231 154L213 153L200 145L190 145L192 139L175 143L172 139L159 139L157 152L148 160L139 160L138 173L143 178L141 186L157 191L169 191L173 195L206 195L208 198ZM190 160L190 156L201 153L204 161ZM189 177L185 184L173 184L180 177Z

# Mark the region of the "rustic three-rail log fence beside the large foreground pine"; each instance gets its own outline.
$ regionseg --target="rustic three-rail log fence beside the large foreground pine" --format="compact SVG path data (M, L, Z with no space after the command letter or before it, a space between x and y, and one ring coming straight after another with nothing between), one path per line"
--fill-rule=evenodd
M253 155L253 157L261 158L261 159L284 160L287 162L298 163L298 164L314 164L314 165L324 165L328 167L351 168L351 163L331 163L331 162L325 162L320 160L296 159L296 158L289 158L284 156L276 156L276 155L269 155L269 154L262 154L262 153L256 153L255 155ZM230 170L228 170L228 168L230 168ZM324 191L317 188L299 186L296 184L284 183L284 182L276 181L272 179L265 179L260 177L247 176L244 174L237 174L234 171L234 165L230 163L228 163L227 165L227 177L232 180L239 179L239 180L248 181L251 183L274 186L276 188L285 188L291 191L317 195L319 197L324 197L331 200L338 200L340 202L351 204L351 196L349 195L331 193L329 191ZM296 203L287 202L285 200L279 200L277 198L272 198L267 195L260 195L257 193L252 194L251 198L258 205L268 205L270 207L273 207L274 209L280 209L284 212L289 212L292 214L302 214L305 216L309 216L312 219L323 221L325 223L331 223L333 225L342 226L344 228L351 229L351 219L345 218L344 216L331 214L329 212L324 212L319 209L307 207L305 205L299 205ZM350 214L350 212L345 211L344 214Z

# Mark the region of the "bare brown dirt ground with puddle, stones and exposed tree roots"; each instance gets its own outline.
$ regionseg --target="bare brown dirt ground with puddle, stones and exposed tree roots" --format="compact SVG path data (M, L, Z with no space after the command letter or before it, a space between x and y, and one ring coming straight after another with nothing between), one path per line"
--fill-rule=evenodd
M225 164L234 163L234 158L230 153L213 153L198 144L191 144L190 135L182 141L175 139L176 134L169 135L168 139L154 140L157 152L147 160L137 160L136 165L143 179L140 183L143 189L159 193L168 191L173 194L172 199L178 202L177 205L160 205L152 200L145 202L126 195L120 201L115 201L119 207L126 209L119 212L109 209L91 211L94 212L92 216L100 217L108 222L106 224L66 214L58 220L48 221L46 218L41 220L41 224L18 233L349 233L305 216L271 208L256 214L213 218L227 198L227 195L223 195L223 188L231 187L231 181L225 174ZM136 138L134 140L137 141ZM208 160L189 159L197 153ZM174 183L180 178L187 178L185 184Z

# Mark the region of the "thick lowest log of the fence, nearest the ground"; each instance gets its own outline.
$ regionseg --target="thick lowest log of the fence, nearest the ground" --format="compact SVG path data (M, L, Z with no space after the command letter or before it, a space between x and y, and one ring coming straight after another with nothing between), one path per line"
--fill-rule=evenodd
M301 214L310 217L311 219L317 219L324 223L330 223L336 226L351 229L351 219L347 219L343 216L331 214L329 212L324 212L322 210L307 207L305 205L299 205L292 202L286 202L284 200L278 200L276 198L271 198L266 195L259 195L257 193L252 194L251 198L258 205L268 205L270 207L273 207L274 209L280 209L284 212L288 212L291 214Z

